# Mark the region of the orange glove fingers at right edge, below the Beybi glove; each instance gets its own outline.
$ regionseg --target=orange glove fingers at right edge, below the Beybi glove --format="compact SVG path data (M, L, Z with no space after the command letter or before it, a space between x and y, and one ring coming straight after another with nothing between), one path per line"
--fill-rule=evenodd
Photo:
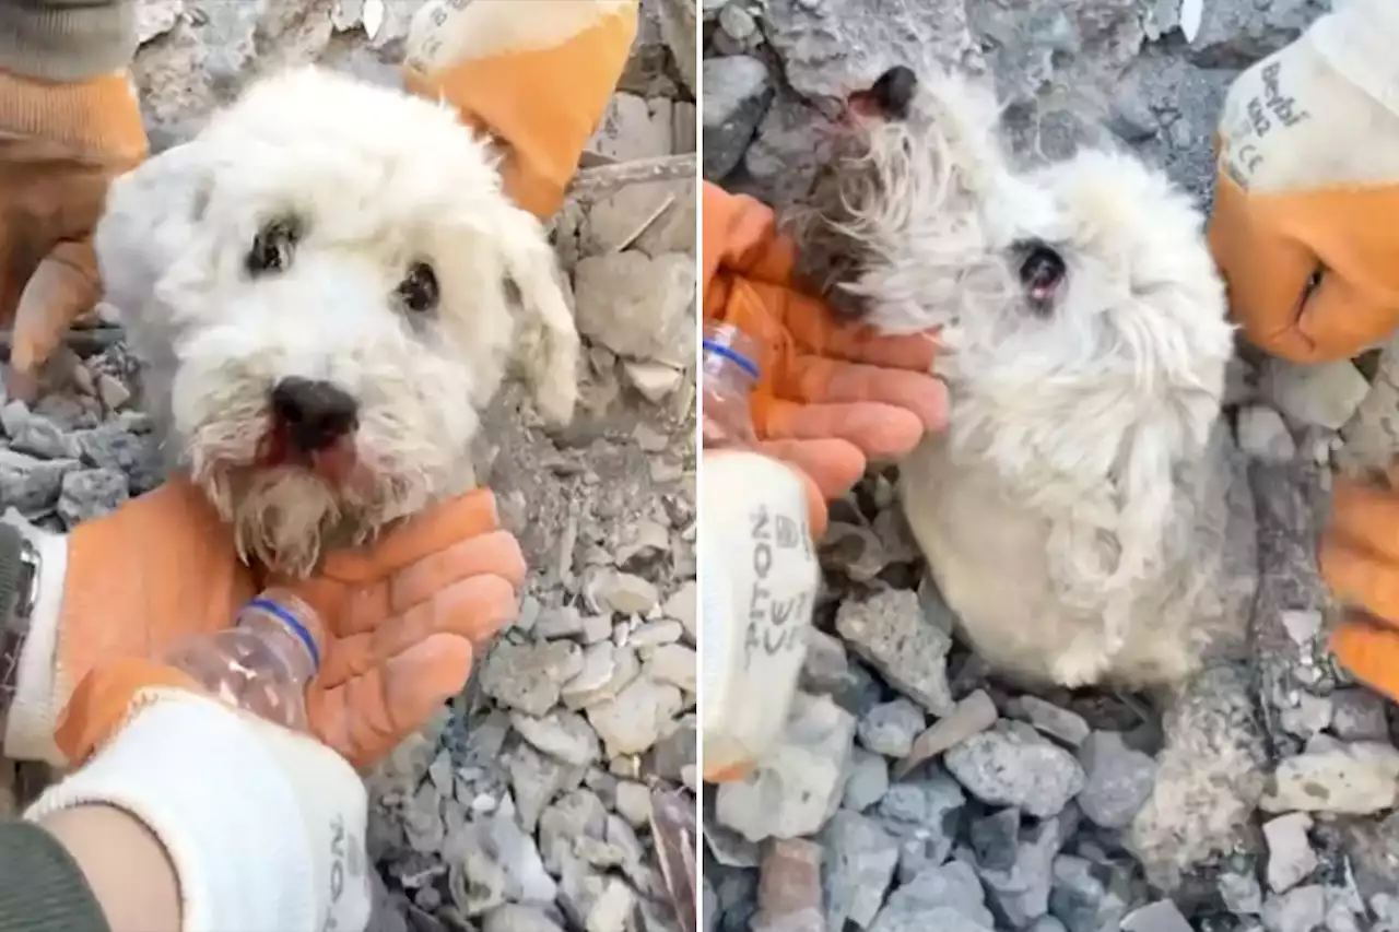
M1335 480L1321 570L1350 610L1330 637L1342 666L1399 702L1399 466L1388 487Z

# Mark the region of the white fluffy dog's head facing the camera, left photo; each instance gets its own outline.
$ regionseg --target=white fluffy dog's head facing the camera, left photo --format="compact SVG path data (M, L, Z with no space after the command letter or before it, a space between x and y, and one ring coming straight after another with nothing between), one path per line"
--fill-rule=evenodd
M572 416L554 253L446 106L266 78L118 179L95 245L172 466L267 567L305 574L473 484L512 362L546 420Z

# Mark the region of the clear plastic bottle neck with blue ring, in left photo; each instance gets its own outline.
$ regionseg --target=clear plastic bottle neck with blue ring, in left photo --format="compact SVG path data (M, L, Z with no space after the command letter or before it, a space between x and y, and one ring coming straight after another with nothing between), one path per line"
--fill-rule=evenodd
M320 631L311 606L285 589L267 589L239 609L234 627L186 638L165 659L218 700L306 732Z

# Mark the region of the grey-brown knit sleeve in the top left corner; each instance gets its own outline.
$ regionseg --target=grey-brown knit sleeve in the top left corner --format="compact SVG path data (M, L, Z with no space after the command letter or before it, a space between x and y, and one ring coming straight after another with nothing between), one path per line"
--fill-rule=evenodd
M80 81L134 55L134 0L0 0L0 71Z

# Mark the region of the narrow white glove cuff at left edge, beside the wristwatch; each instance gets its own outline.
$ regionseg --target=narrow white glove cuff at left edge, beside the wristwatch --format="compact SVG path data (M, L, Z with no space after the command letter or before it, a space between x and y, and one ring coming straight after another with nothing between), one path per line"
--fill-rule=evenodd
M59 649L59 617L63 614L63 581L69 570L69 539L35 528L13 509L0 521L18 528L39 553L38 591L29 613L29 634L20 652L15 697L4 735L0 735L0 746L11 760L42 760L63 765L63 754L53 743L53 729L62 711L55 696L55 659Z

